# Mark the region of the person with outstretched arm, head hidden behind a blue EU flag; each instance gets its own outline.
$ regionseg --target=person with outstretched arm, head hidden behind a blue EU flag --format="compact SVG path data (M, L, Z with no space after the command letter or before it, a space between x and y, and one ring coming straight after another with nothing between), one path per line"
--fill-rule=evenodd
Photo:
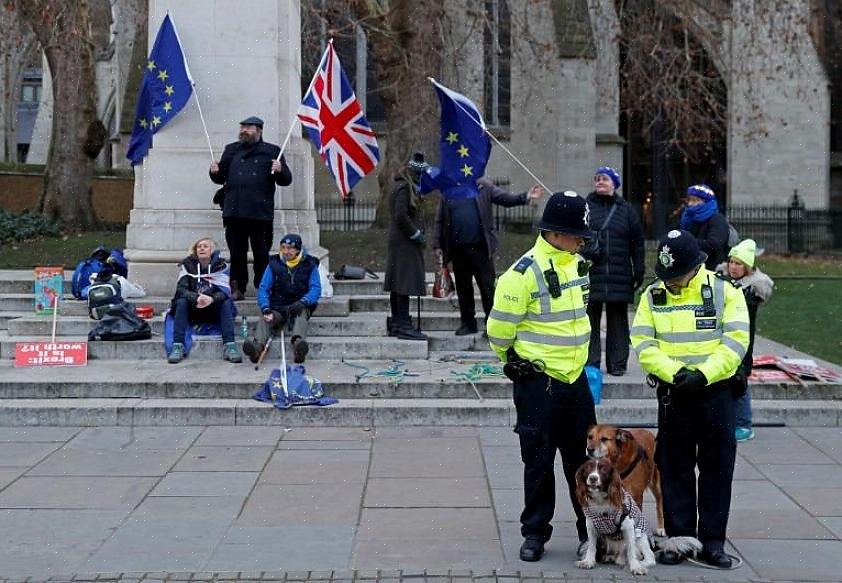
M476 198L448 199L443 192L436 212L433 248L442 255L444 263L453 264L456 296L459 298L461 325L457 336L476 334L476 306L474 282L479 287L485 317L494 303L494 253L499 242L494 223L492 204L513 207L541 198L544 189L533 186L529 192L512 194L495 186L486 178L477 180L479 196Z

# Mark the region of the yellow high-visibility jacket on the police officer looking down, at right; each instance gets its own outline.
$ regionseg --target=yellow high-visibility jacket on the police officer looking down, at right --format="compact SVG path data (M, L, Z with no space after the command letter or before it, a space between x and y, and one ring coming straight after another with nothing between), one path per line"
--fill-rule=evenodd
M714 313L705 310L704 285L713 292ZM732 377L748 342L748 309L742 291L704 266L677 295L662 281L646 288L631 329L640 366L668 383L682 367L701 371L708 384Z

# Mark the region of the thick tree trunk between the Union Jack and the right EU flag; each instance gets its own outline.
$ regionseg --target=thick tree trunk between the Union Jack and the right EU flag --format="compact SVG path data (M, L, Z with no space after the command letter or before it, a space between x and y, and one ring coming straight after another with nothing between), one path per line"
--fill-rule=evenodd
M367 28L386 116L385 156L380 161L380 198L373 227L389 222L389 194L395 176L415 150L438 159L438 100L427 77L442 69L443 0L394 0L380 15L376 3L355 2L355 15Z

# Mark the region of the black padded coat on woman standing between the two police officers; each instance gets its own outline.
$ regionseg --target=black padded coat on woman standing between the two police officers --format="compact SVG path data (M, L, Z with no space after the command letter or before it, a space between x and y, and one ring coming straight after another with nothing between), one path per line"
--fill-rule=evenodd
M643 227L637 211L617 194L609 197L591 192L587 201L588 222L594 233L602 229L611 207L617 207L600 236L599 254L589 253L587 248L583 252L586 259L594 262L589 300L631 303L634 287L643 281L645 270Z

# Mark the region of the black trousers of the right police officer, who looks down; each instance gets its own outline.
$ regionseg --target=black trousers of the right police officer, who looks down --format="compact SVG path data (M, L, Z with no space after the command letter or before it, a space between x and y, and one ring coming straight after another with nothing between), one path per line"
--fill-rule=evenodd
M664 496L664 527L667 536L693 536L705 548L721 550L728 526L737 454L732 379L688 396L673 388L665 405L668 388L662 385L658 389L655 450Z

